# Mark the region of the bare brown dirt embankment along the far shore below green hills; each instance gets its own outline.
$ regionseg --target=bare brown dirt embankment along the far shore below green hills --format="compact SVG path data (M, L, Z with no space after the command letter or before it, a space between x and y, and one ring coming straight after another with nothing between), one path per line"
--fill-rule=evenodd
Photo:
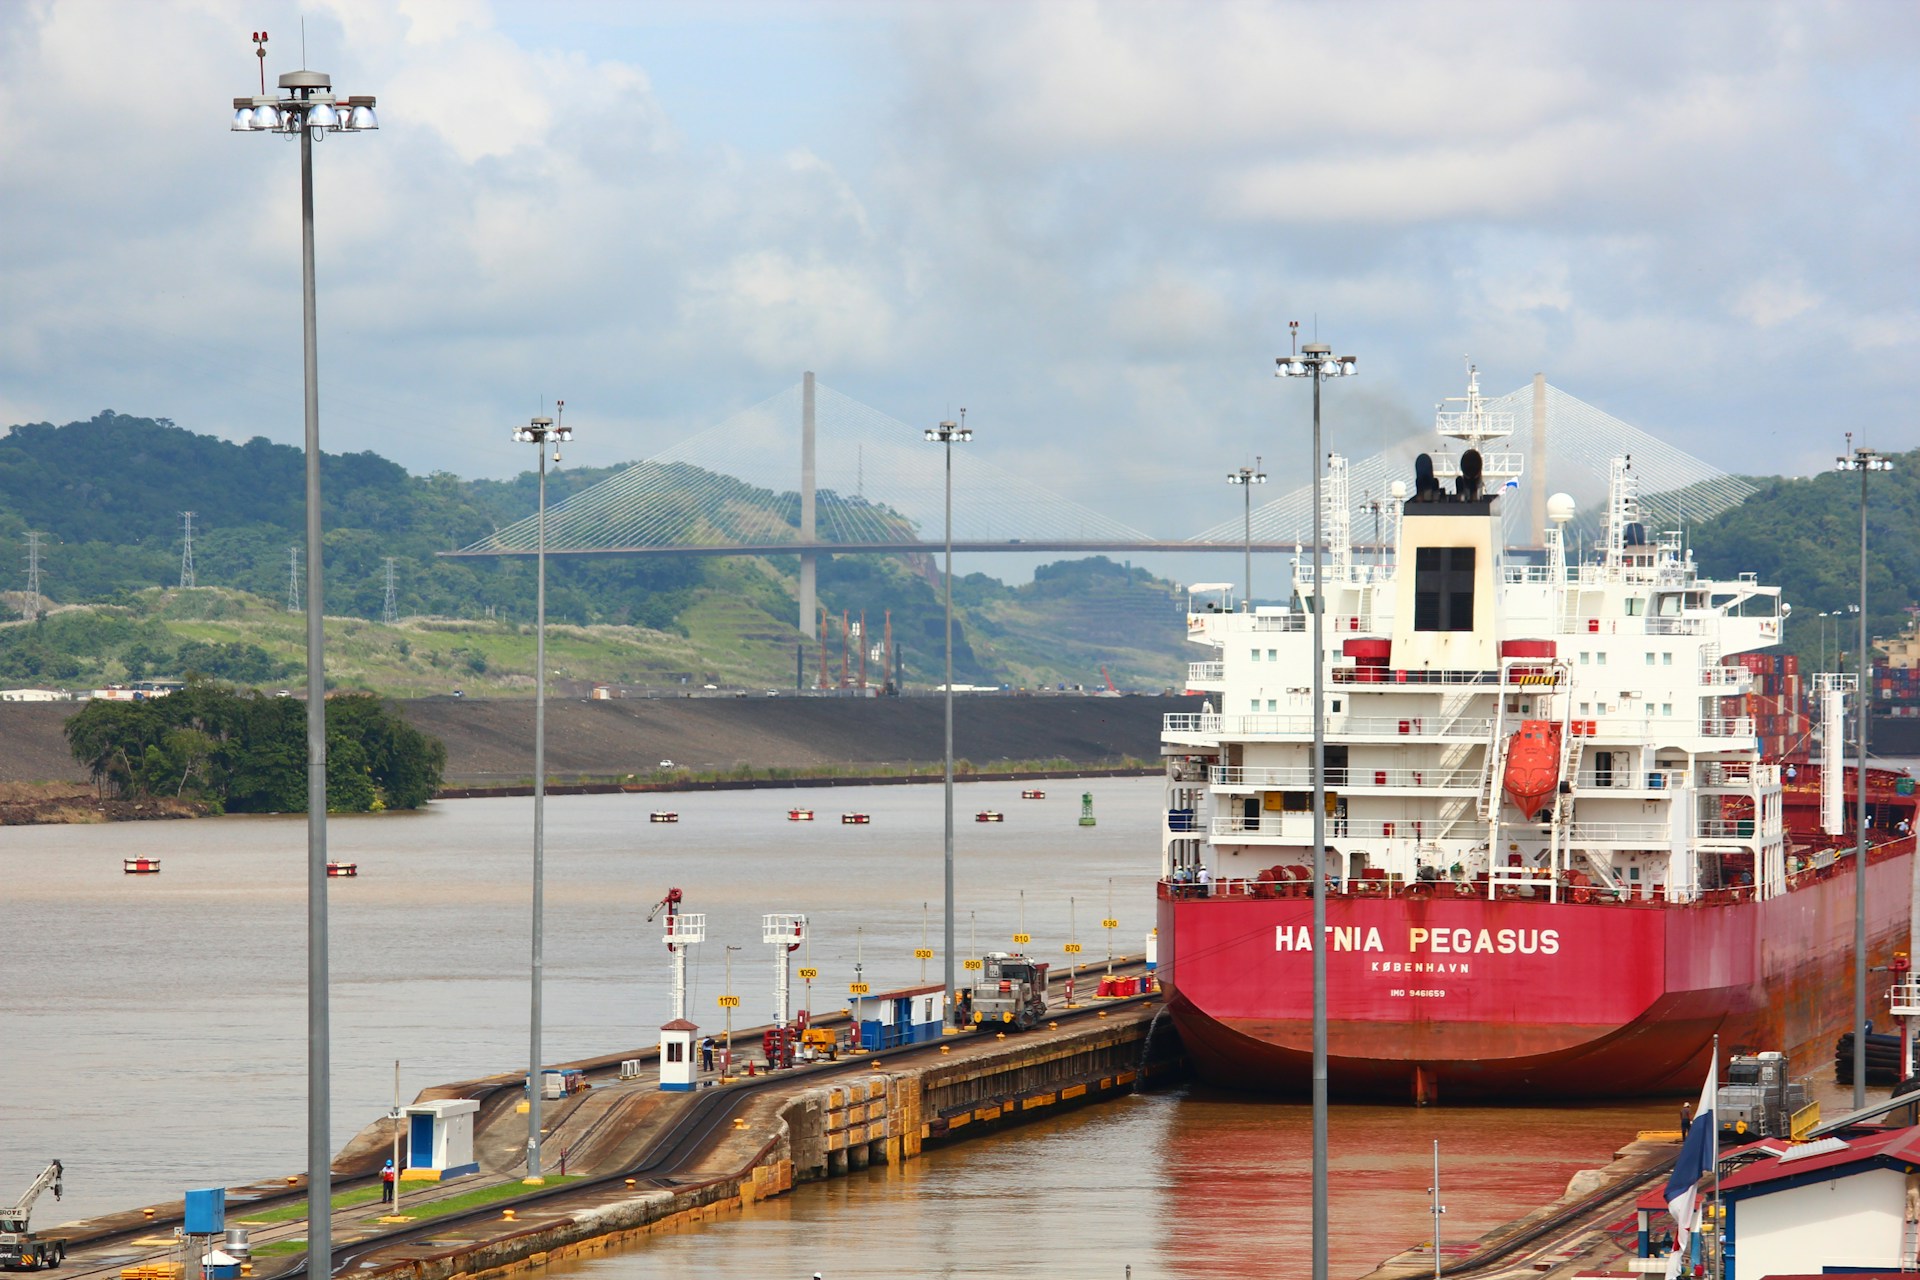
M449 785L532 779L532 699L419 699L401 714L447 745ZM0 783L84 783L63 725L79 702L0 702ZM1160 756L1160 718L1187 699L954 700L954 756L1110 764ZM551 777L653 773L662 760L708 771L845 770L931 764L943 756L941 699L614 699L547 702ZM86 789L90 796L92 791Z

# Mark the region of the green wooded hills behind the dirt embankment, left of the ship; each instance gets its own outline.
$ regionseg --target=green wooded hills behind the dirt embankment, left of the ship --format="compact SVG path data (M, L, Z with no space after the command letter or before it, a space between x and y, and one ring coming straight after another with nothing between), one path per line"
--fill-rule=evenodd
M707 472L685 470L689 493L712 487ZM549 503L609 474L551 472ZM12 428L0 436L0 547L21 549L27 530L48 535L42 595L56 612L33 628L0 626L0 681L198 670L298 683L303 633L284 603L290 549L303 541L301 489L301 451L261 438L232 443L111 411ZM399 695L532 687L532 562L436 555L532 514L532 474L411 476L372 453L326 455L323 501L334 681ZM167 587L179 581L182 510L194 512L192 591ZM682 516L712 520L691 499ZM376 622L388 558L401 618L392 628ZM0 557L0 612L17 616L25 555ZM789 689L801 645L797 570L795 557L549 560L549 656L563 679L586 683ZM824 558L820 603L835 676L839 620L858 622L864 610L874 643L891 612L910 685L941 677L939 576L929 560ZM1188 660L1177 587L1106 558L1044 566L1021 587L973 574L956 581L954 608L954 674L964 681L1096 685L1106 666L1123 687L1158 691L1179 683ZM858 670L856 652L849 668ZM876 683L879 668L870 662ZM806 670L818 670L814 645Z

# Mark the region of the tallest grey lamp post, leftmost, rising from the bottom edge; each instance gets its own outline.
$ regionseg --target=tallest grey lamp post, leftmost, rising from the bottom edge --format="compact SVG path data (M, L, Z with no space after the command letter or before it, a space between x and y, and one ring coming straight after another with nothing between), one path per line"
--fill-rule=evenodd
M340 100L324 71L288 71L278 94L267 92L267 33L253 33L261 92L234 98L232 132L300 138L300 292L305 349L307 451L307 1274L332 1274L332 1138L328 1090L330 1027L326 1017L326 666L321 610L321 365L313 303L313 144L330 132L380 127L374 100Z

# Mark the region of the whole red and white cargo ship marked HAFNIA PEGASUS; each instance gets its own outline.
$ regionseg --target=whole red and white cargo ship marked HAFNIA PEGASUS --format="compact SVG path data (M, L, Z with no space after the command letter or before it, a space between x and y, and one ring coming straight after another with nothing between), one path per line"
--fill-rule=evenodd
M1188 618L1219 658L1188 676L1202 712L1164 729L1160 975L1212 1082L1309 1084L1313 608L1336 1096L1682 1092L1715 1034L1811 1071L1851 1021L1855 771L1809 764L1778 702L1757 723L1757 689L1799 687L1755 652L1780 641L1778 587L1649 545L1624 459L1594 560L1565 555L1565 495L1544 562L1507 551L1492 493L1519 455L1480 447L1509 430L1469 386L1440 418L1465 453L1394 486L1394 562L1356 562L1334 528L1298 606ZM1344 509L1338 457L1329 484ZM1912 791L1868 771L1876 967L1907 946Z

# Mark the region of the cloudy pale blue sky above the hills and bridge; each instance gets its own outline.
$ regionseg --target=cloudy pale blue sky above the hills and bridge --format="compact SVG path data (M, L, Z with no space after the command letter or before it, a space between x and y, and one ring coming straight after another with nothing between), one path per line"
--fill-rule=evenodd
M503 476L647 457L803 368L1164 535L1298 480L1286 322L1354 455L1471 355L1728 470L1920 443L1920 8L0 0L0 422L300 439L305 61L323 430Z

